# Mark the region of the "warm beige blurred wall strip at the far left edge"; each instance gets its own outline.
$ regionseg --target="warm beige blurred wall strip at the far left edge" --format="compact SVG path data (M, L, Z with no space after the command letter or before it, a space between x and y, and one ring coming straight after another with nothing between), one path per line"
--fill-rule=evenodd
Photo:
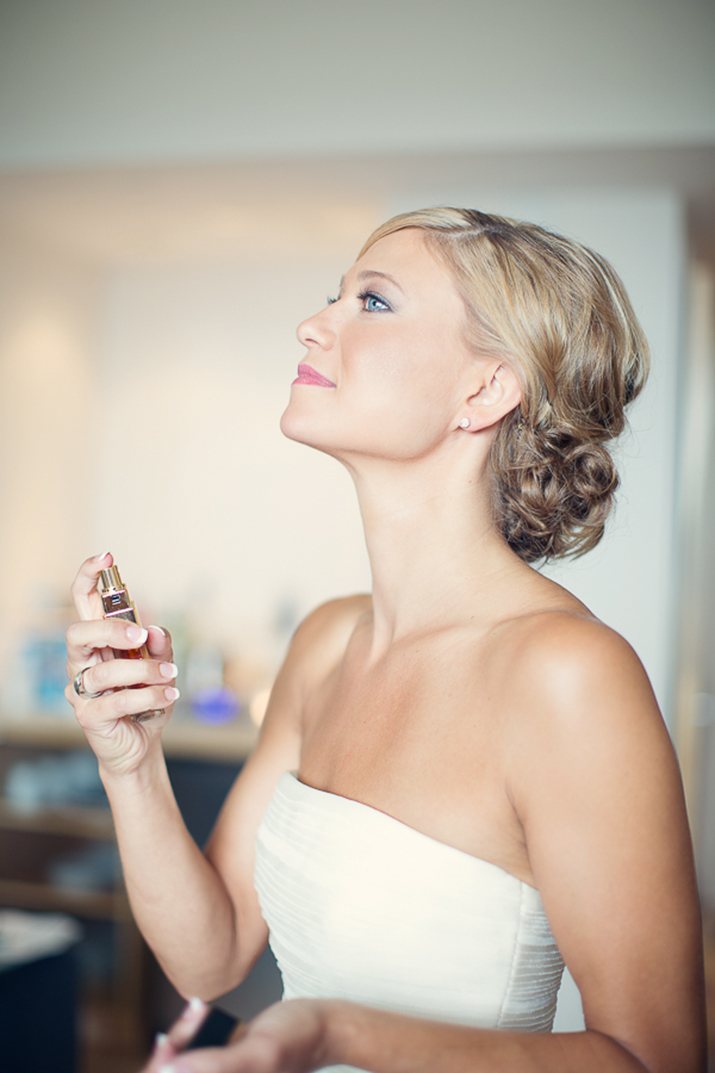
M68 591L92 510L98 280L47 250L0 250L0 665Z

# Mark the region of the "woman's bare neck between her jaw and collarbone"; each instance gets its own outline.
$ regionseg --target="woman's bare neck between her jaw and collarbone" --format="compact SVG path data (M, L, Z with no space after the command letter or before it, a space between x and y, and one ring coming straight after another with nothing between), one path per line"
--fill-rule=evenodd
M494 525L486 459L447 462L346 464L373 572L376 653L407 635L487 621L496 590L502 600L505 580L529 571Z

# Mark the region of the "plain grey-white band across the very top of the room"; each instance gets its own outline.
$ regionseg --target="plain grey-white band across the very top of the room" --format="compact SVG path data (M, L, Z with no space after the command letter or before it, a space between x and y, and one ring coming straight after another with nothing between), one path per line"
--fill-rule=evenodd
M704 0L0 4L0 167L713 137Z

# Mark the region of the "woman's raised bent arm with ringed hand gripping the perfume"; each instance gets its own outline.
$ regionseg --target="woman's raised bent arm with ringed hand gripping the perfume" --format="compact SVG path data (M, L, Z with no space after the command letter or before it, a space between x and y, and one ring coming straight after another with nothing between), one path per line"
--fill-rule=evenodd
M113 648L143 641L131 632L136 627L101 618L97 579L111 562L108 556L88 560L73 585L81 621L68 631L67 695L99 760L138 927L179 991L214 998L246 975L266 942L253 891L253 841L280 773L297 764L293 700L302 646L287 660L260 744L219 823L232 859L208 861L184 824L161 749L175 696L171 638L150 628L151 659L111 658ZM102 695L76 694L72 681L82 668L85 691ZM165 714L138 723L127 718L157 708Z

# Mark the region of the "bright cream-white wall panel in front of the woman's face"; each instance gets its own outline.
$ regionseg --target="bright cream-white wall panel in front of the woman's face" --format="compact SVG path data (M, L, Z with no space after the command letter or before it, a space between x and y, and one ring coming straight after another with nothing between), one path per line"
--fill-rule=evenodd
M278 427L295 327L352 256L130 266L107 281L87 552L112 549L156 614L185 609L229 652L269 645L281 606L369 588L350 479Z

